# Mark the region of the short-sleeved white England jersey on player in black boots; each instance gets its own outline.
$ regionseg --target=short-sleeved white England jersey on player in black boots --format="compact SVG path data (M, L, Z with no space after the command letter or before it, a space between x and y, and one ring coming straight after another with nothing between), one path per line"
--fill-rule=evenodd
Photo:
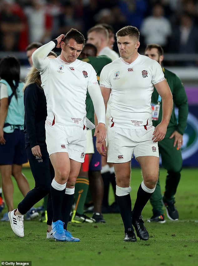
M145 55L131 64L120 57L104 66L100 86L111 89L109 126L150 128L153 85L164 79L160 64Z

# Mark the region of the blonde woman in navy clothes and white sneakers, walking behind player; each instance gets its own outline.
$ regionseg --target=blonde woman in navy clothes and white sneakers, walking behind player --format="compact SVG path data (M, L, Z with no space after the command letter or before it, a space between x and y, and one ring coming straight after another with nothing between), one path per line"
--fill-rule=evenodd
M57 55L51 51L48 57L56 58ZM39 71L32 66L30 72L27 74L24 85L24 132L26 152L35 180L35 187L29 191L25 198L18 204L17 209L8 213L12 230L19 237L24 237L24 214L26 214L34 204L49 194L51 183L54 178L54 170L50 163L45 142L47 103L41 83ZM52 201L49 196L47 201L47 238L53 238L52 217Z

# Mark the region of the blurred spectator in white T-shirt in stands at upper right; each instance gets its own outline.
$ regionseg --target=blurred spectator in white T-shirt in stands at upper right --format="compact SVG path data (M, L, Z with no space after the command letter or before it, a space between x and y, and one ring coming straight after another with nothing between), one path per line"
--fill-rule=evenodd
M157 3L152 8L152 15L145 18L141 26L144 44L157 43L165 50L171 35L171 23L164 17L163 5Z

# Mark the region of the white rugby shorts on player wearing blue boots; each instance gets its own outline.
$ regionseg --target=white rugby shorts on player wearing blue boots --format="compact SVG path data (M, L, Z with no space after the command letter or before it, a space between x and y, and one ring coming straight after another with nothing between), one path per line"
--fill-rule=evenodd
M87 130L80 127L67 127L55 123L45 123L46 144L49 155L67 152L69 158L83 163L87 144ZM90 130L91 131L91 130Z

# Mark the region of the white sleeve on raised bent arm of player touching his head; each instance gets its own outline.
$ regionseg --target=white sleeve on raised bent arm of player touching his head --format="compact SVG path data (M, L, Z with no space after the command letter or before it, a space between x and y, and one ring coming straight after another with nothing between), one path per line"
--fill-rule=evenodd
M36 69L43 69L49 62L47 55L55 47L55 43L50 41L47 44L42 45L32 54L32 62Z

